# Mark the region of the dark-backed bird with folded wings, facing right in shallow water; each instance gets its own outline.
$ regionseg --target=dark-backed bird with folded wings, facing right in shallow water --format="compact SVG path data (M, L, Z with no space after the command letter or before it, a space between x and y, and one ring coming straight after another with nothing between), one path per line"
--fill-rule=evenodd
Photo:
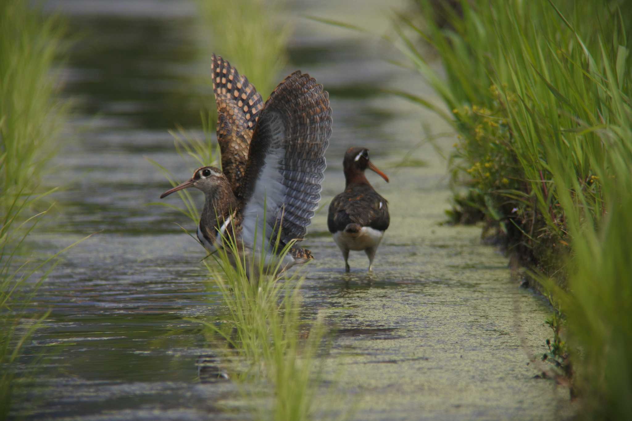
M386 182L389 177L368 159L367 148L349 148L343 160L345 186L329 205L327 227L343 252L344 270L349 271L349 251L364 251L368 271L373 271L377 247L389 227L388 202L368 182L368 168Z

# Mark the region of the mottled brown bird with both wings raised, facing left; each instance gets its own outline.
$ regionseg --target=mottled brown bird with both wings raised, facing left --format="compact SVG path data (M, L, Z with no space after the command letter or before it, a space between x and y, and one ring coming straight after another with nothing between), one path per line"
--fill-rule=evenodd
M222 57L213 55L211 69L222 169L200 167L161 198L199 189L205 196L200 244L214 252L230 239L240 254L267 266L284 246L303 239L318 208L331 137L329 94L308 74L295 71L264 104ZM293 244L282 267L310 259L309 250Z

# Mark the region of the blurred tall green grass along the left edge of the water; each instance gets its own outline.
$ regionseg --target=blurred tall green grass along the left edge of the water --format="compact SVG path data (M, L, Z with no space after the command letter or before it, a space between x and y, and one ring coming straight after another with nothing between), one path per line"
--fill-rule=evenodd
M17 362L47 314L25 313L58 254L30 262L21 249L46 211L33 206L52 193L39 189L59 139L66 105L54 63L64 54L64 24L27 1L0 2L0 418L18 379ZM65 250L65 249L64 249Z

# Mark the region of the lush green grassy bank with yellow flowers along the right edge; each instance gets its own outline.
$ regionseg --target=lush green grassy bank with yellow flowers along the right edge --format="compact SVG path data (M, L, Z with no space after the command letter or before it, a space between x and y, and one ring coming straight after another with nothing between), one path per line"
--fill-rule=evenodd
M483 215L540 274L566 316L567 328L564 317L553 323L561 336L550 355L576 372L584 414L629 416L632 323L621 315L632 310L632 11L567 0L418 9L422 24L400 17L398 45L451 112L431 109L459 134L451 215Z

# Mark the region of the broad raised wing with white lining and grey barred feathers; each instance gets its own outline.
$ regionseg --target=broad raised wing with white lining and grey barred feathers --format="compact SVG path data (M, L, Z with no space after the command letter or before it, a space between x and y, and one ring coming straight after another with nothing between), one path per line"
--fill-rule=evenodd
M329 94L300 71L272 92L253 133L241 190L248 242L301 240L318 207L331 137Z

